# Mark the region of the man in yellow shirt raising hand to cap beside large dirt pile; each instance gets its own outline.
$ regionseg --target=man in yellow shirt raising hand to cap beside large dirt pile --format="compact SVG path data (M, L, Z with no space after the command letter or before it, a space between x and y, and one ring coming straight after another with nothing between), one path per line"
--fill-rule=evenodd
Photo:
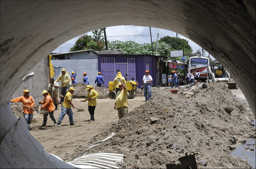
M127 88L123 82L118 82L119 91L116 95L114 109L118 110L118 118L121 119L128 113Z

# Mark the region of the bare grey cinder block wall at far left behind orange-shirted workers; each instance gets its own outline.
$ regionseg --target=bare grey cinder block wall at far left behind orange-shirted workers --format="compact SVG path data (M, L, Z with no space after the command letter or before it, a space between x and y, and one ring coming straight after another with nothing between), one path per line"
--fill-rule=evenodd
M41 93L43 90L47 89L47 85L49 84L49 68L47 57L38 63L31 72L34 72L35 75L32 76L28 81L23 82L10 99L22 96L23 90L25 89L30 90L29 95L31 95L35 101L43 98Z

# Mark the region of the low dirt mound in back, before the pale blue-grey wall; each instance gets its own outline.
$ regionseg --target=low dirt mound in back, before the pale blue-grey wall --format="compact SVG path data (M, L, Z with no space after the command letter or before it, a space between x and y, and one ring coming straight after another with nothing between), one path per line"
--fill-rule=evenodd
M87 84L85 83L77 83L72 84L71 87L75 88L75 92L72 95L73 98L87 98L88 91L86 90ZM108 88L100 88L100 87L93 87L94 90L99 94L97 99L105 99L108 98Z

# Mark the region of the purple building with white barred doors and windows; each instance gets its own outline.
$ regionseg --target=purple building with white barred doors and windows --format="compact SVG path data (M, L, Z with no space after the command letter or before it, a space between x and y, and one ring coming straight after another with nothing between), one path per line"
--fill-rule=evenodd
M152 85L159 85L159 62L163 56L147 54L99 54L98 67L105 81L103 87L108 87L109 81L114 81L116 70L128 81L134 78L141 86L145 71L149 70L152 76Z

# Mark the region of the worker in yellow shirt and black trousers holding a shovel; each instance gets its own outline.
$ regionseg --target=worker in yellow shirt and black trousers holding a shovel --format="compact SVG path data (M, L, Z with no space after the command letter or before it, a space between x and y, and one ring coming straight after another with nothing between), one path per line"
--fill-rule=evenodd
M88 100L88 111L91 115L90 122L95 121L94 120L94 110L97 106L97 97L99 94L94 90L93 86L87 85L86 90L88 90L87 93L87 99L83 100L82 102L86 102Z

